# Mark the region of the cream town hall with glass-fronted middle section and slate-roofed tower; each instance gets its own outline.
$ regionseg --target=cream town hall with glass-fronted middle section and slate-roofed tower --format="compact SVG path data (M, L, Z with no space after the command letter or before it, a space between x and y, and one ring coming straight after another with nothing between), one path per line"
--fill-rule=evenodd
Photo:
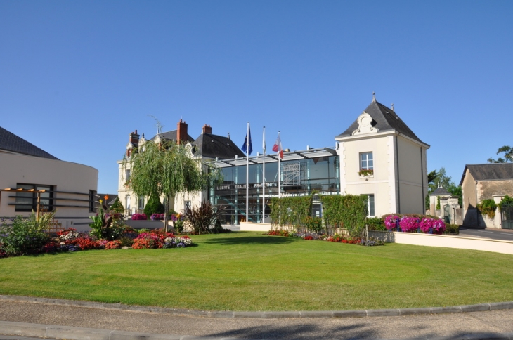
M173 135L171 131L168 136L176 136L180 134L178 131L183 131L179 124L176 133ZM199 157L211 160L221 169L223 183L213 183L197 195L175 197L173 209L176 211L182 211L187 204L209 200L212 204L226 207L224 217L228 224L241 221L261 223L268 222L270 197L318 193L365 195L368 216L425 212L429 145L398 117L393 105L392 108L386 107L375 98L344 132L335 136L334 148L307 147L301 151L285 151L283 159L278 159L278 154L247 159L229 136L212 135L209 126L204 126L202 135L195 140L182 135L182 138L188 138L187 143L191 147L200 151ZM141 148L136 133L132 133L130 138L126 146L127 156L134 147ZM132 208L133 204L138 204L138 201L124 188L129 174L122 161L118 164L119 198L123 204L130 202L133 212L136 210ZM139 202L138 209L143 207L144 198Z

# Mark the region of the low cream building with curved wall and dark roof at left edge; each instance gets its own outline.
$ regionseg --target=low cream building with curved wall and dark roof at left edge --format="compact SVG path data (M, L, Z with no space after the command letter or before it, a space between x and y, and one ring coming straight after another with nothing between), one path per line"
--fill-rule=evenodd
M56 211L63 228L89 229L98 170L65 162L0 127L0 216Z

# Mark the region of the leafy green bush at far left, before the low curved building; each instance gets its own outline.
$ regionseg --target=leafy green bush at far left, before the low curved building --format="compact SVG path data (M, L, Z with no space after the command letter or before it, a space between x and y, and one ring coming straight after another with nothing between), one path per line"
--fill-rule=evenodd
M49 240L34 214L27 218L16 216L11 225L5 221L0 226L0 248L8 255L38 254Z

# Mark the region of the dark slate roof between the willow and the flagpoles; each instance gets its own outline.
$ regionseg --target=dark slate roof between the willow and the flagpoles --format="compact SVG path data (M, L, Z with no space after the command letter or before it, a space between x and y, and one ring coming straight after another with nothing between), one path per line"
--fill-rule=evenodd
M246 155L240 148L238 148L233 141L228 137L213 135L212 133L202 133L193 145L196 146L197 152L200 152L202 157L219 159L245 157Z

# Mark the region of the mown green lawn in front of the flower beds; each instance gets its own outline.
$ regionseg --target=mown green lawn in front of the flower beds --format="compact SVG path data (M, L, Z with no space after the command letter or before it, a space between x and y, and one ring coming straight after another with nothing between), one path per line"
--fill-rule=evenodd
M513 256L260 233L186 249L0 259L0 294L198 310L350 310L513 300Z

